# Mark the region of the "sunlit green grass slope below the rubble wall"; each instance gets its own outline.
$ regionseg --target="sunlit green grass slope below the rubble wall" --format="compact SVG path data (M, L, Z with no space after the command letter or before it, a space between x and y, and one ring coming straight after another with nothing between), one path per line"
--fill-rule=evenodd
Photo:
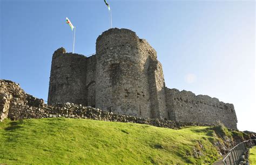
M209 127L48 118L0 123L0 164L202 164L218 159Z

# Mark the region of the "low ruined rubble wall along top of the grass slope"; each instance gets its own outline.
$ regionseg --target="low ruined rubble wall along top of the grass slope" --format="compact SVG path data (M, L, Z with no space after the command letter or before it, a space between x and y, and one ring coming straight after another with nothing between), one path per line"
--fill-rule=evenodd
M82 104L77 105L73 103L56 103L54 106L46 105L44 104L43 99L38 99L26 94L24 90L22 90L15 82L0 80L0 84L0 96L10 96L8 102L5 102L5 96L0 97L0 103L5 102L5 105L8 104L5 107L9 107L9 109L5 109L7 111L4 112L11 120L65 117L119 121L124 123L139 123L166 128L181 128L188 125L211 126L203 123L183 123L170 120L127 116L123 114L102 111L91 106L83 106ZM3 106L0 107L0 112L3 112Z

